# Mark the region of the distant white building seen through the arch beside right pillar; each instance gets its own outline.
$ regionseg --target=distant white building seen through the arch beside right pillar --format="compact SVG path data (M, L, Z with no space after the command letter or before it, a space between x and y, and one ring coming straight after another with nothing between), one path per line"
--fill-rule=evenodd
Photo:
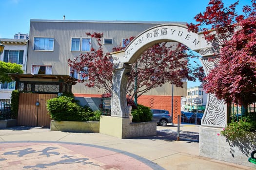
M201 104L196 104L199 99ZM187 96L181 99L181 111L184 112L204 112L207 102L207 94L203 91L202 86L190 87L187 89Z

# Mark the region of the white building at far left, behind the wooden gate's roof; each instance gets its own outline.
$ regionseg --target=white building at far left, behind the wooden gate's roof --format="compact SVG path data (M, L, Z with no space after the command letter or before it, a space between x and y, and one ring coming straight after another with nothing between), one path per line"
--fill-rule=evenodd
M0 38L4 45L3 53L0 55L0 61L11 62L22 65L24 73L26 72L28 34L15 34L14 39ZM15 89L15 82L0 83L0 99L10 99L11 93Z

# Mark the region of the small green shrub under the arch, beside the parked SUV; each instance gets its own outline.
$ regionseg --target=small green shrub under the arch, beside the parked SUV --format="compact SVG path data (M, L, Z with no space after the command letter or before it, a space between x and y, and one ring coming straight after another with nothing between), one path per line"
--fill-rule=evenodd
M133 122L152 121L152 112L149 107L138 104L137 109L132 110Z

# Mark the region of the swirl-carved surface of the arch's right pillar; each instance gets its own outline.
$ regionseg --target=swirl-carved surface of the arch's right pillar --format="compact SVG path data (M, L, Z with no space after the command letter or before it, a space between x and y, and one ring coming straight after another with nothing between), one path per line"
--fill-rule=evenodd
M203 57L200 61L207 75L219 60L215 57ZM201 121L202 125L225 127L227 124L226 111L227 107L223 100L218 100L214 94L208 94L204 116Z

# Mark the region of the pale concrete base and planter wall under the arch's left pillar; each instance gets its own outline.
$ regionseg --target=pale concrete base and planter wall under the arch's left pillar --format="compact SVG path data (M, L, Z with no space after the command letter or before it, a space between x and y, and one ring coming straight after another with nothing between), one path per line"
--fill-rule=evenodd
M155 121L130 123L129 118L101 116L99 120L99 133L118 138L157 135Z

